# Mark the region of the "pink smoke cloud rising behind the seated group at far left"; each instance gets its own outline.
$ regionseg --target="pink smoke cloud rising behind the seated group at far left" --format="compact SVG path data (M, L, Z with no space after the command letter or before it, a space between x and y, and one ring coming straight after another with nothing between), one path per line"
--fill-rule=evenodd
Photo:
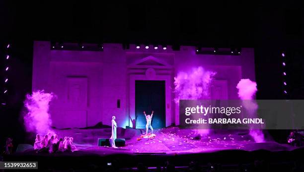
M44 90L26 95L24 106L28 112L23 117L26 131L41 135L51 131L52 120L49 114L49 103L54 97L53 93L45 93Z

